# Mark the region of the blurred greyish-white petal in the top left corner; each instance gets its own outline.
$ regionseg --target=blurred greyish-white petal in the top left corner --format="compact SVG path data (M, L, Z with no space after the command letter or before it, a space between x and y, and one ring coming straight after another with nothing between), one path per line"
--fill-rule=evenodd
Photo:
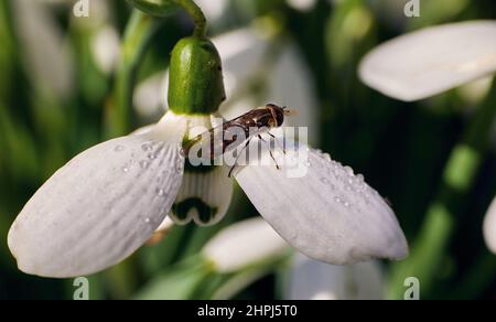
M74 85L71 55L46 4L18 0L12 6L29 77L48 95L67 97Z

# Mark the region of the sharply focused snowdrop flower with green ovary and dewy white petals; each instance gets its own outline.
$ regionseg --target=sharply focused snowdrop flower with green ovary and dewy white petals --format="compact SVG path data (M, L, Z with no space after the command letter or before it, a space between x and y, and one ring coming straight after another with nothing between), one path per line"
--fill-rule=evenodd
M215 126L224 95L215 46L195 36L180 41L171 58L171 109L148 131L80 153L34 194L8 236L19 268L44 277L89 275L132 254L168 214L180 224L222 219L229 168L192 167L182 146L198 126ZM407 256L395 214L362 175L303 143L287 147L277 153L279 169L265 149L263 162L249 160L234 178L288 244L336 265ZM295 158L302 154L308 159ZM290 165L306 175L287 175Z

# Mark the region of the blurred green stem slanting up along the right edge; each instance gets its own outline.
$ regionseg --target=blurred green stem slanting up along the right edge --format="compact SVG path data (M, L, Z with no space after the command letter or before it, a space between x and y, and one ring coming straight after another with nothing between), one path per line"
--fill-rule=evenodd
M488 135L496 116L496 80L489 95L471 120L463 140L454 147L446 163L438 195L429 206L425 221L412 243L410 256L392 267L390 292L401 299L408 277L420 280L421 292L429 294L446 258L448 246L455 228L456 216L466 206L467 194L477 178L487 149Z

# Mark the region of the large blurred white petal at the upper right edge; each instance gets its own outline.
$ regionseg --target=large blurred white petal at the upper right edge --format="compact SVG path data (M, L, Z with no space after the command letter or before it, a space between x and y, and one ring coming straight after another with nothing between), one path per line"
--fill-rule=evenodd
M398 99L440 94L496 71L496 22L468 21L423 29L392 41L362 62L368 86Z

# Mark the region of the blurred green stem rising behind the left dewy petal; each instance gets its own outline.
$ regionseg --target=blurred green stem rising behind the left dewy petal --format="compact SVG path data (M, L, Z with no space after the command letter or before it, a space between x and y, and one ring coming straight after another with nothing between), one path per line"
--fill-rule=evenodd
M126 28L114 97L107 115L107 137L119 137L132 129L132 93L137 73L161 20L133 11Z

